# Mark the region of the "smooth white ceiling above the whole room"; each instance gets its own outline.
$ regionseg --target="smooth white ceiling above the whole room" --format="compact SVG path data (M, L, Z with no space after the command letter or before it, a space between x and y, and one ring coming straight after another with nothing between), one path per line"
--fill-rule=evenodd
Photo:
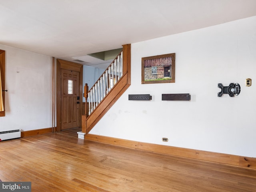
M0 0L0 44L104 68L88 54L255 15L256 0Z

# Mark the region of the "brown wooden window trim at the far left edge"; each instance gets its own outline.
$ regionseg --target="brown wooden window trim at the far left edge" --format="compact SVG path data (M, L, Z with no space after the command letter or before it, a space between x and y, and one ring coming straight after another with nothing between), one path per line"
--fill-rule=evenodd
M2 90L5 90L5 51L4 50L0 50L0 71L1 71L1 80L2 80ZM2 91L2 94L3 94L3 102L4 102L4 111L0 111L0 117L5 116L5 91Z

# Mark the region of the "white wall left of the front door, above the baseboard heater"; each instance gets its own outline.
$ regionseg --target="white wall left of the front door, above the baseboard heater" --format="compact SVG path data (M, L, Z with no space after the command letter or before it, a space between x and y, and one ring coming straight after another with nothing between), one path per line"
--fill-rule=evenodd
M0 132L52 127L52 58L4 46L5 110Z

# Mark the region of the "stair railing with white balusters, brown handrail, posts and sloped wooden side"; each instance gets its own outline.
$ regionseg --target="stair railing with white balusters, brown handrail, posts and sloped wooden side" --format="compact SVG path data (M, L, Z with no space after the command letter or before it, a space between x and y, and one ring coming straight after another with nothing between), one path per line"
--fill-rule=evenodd
M84 86L82 132L88 134L131 84L131 44L123 50L88 91Z

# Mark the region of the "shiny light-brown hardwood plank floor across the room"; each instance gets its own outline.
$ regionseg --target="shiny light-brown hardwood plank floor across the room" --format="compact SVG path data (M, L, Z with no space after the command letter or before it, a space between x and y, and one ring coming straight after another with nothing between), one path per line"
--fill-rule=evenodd
M77 138L78 129L0 142L0 180L32 192L256 192L256 170Z

